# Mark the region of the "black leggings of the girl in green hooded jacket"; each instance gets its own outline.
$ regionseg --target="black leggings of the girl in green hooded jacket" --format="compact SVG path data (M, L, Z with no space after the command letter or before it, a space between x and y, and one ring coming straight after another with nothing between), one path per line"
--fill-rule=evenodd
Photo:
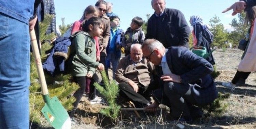
M77 105L79 104L84 91L85 91L85 76L80 76L80 77L75 77L73 76L74 82L76 82L79 85L79 89L77 91L75 91L75 93L73 94L73 96L76 98L75 102L73 103L73 109L71 111L69 111L69 116L72 118L75 114L75 110L77 109Z

